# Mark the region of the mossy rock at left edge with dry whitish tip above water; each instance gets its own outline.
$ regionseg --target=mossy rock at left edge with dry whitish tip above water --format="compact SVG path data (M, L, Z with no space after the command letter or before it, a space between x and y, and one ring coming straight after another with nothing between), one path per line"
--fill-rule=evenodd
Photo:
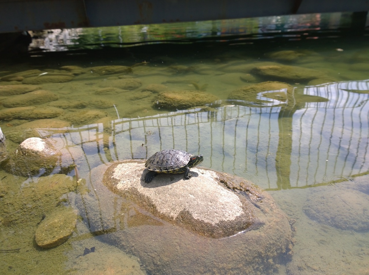
M8 173L15 175L49 174L54 170L59 156L60 151L50 141L31 137L23 141L17 150L8 154L1 166Z

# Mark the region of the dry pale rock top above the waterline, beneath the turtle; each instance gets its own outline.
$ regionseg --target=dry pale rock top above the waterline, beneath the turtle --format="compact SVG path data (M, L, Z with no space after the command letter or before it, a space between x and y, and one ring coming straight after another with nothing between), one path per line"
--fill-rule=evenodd
M205 236L225 237L263 225L262 214L255 216L259 209L254 205L262 200L261 193L255 195L255 190L239 195L221 183L224 174L198 168L191 171L191 179L183 174L158 174L145 183L148 170L144 162L122 162L110 166L104 183L154 215Z

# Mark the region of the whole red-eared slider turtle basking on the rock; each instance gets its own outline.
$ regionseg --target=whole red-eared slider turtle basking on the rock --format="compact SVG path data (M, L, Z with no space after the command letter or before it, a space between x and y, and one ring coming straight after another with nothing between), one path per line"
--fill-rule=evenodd
M184 173L184 177L192 177L190 168L203 162L203 155L192 155L182 150L163 150L149 157L145 167L150 171L145 175L145 182L149 183L156 173Z

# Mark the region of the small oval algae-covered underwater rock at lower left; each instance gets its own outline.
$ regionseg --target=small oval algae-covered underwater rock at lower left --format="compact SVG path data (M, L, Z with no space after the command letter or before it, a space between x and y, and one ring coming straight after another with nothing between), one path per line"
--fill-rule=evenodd
M69 239L76 227L77 214L72 208L56 210L38 225L35 241L42 248L52 248L61 245Z

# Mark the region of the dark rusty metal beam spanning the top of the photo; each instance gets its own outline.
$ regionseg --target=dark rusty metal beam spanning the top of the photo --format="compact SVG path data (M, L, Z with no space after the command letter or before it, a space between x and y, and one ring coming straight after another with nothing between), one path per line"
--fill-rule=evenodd
M368 10L368 0L0 0L0 33Z

